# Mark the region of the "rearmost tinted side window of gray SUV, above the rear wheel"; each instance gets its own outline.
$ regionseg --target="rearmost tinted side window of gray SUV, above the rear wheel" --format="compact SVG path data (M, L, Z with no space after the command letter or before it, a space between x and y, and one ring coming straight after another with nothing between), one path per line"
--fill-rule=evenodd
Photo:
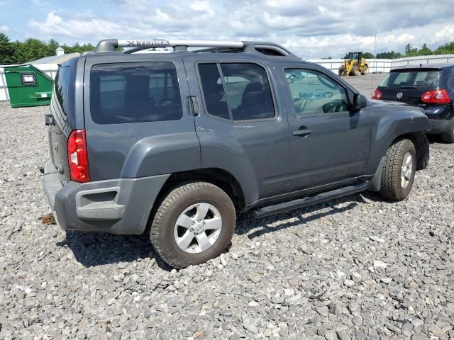
M90 105L97 124L179 120L183 109L175 65L171 62L94 65Z

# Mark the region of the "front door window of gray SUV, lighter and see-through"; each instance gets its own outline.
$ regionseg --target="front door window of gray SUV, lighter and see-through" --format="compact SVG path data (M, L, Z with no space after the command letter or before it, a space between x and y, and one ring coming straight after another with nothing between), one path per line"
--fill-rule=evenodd
M309 69L285 69L285 77L297 116L348 111L345 89L325 74Z

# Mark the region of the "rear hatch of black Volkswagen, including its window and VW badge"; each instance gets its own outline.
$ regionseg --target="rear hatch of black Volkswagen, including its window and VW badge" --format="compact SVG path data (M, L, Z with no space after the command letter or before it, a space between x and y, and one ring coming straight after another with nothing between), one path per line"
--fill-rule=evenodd
M438 90L441 69L421 68L392 70L378 87L384 101L401 101L421 106L421 96L426 91Z

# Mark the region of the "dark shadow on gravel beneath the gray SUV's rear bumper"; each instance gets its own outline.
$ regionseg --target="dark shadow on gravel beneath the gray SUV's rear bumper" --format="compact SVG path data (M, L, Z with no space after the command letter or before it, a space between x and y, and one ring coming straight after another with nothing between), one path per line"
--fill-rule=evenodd
M66 232L66 238L57 246L71 249L76 260L83 266L133 262L139 259L155 259L162 270L172 271L172 267L162 261L153 251L153 246L145 235L113 235L103 232Z

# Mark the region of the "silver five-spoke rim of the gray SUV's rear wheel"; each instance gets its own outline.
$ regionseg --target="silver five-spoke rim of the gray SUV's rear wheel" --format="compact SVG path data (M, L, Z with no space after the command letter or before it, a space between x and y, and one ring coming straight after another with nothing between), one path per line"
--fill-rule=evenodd
M182 251L201 253L216 242L221 229L219 210L209 203L196 203L179 215L174 228L175 242Z

